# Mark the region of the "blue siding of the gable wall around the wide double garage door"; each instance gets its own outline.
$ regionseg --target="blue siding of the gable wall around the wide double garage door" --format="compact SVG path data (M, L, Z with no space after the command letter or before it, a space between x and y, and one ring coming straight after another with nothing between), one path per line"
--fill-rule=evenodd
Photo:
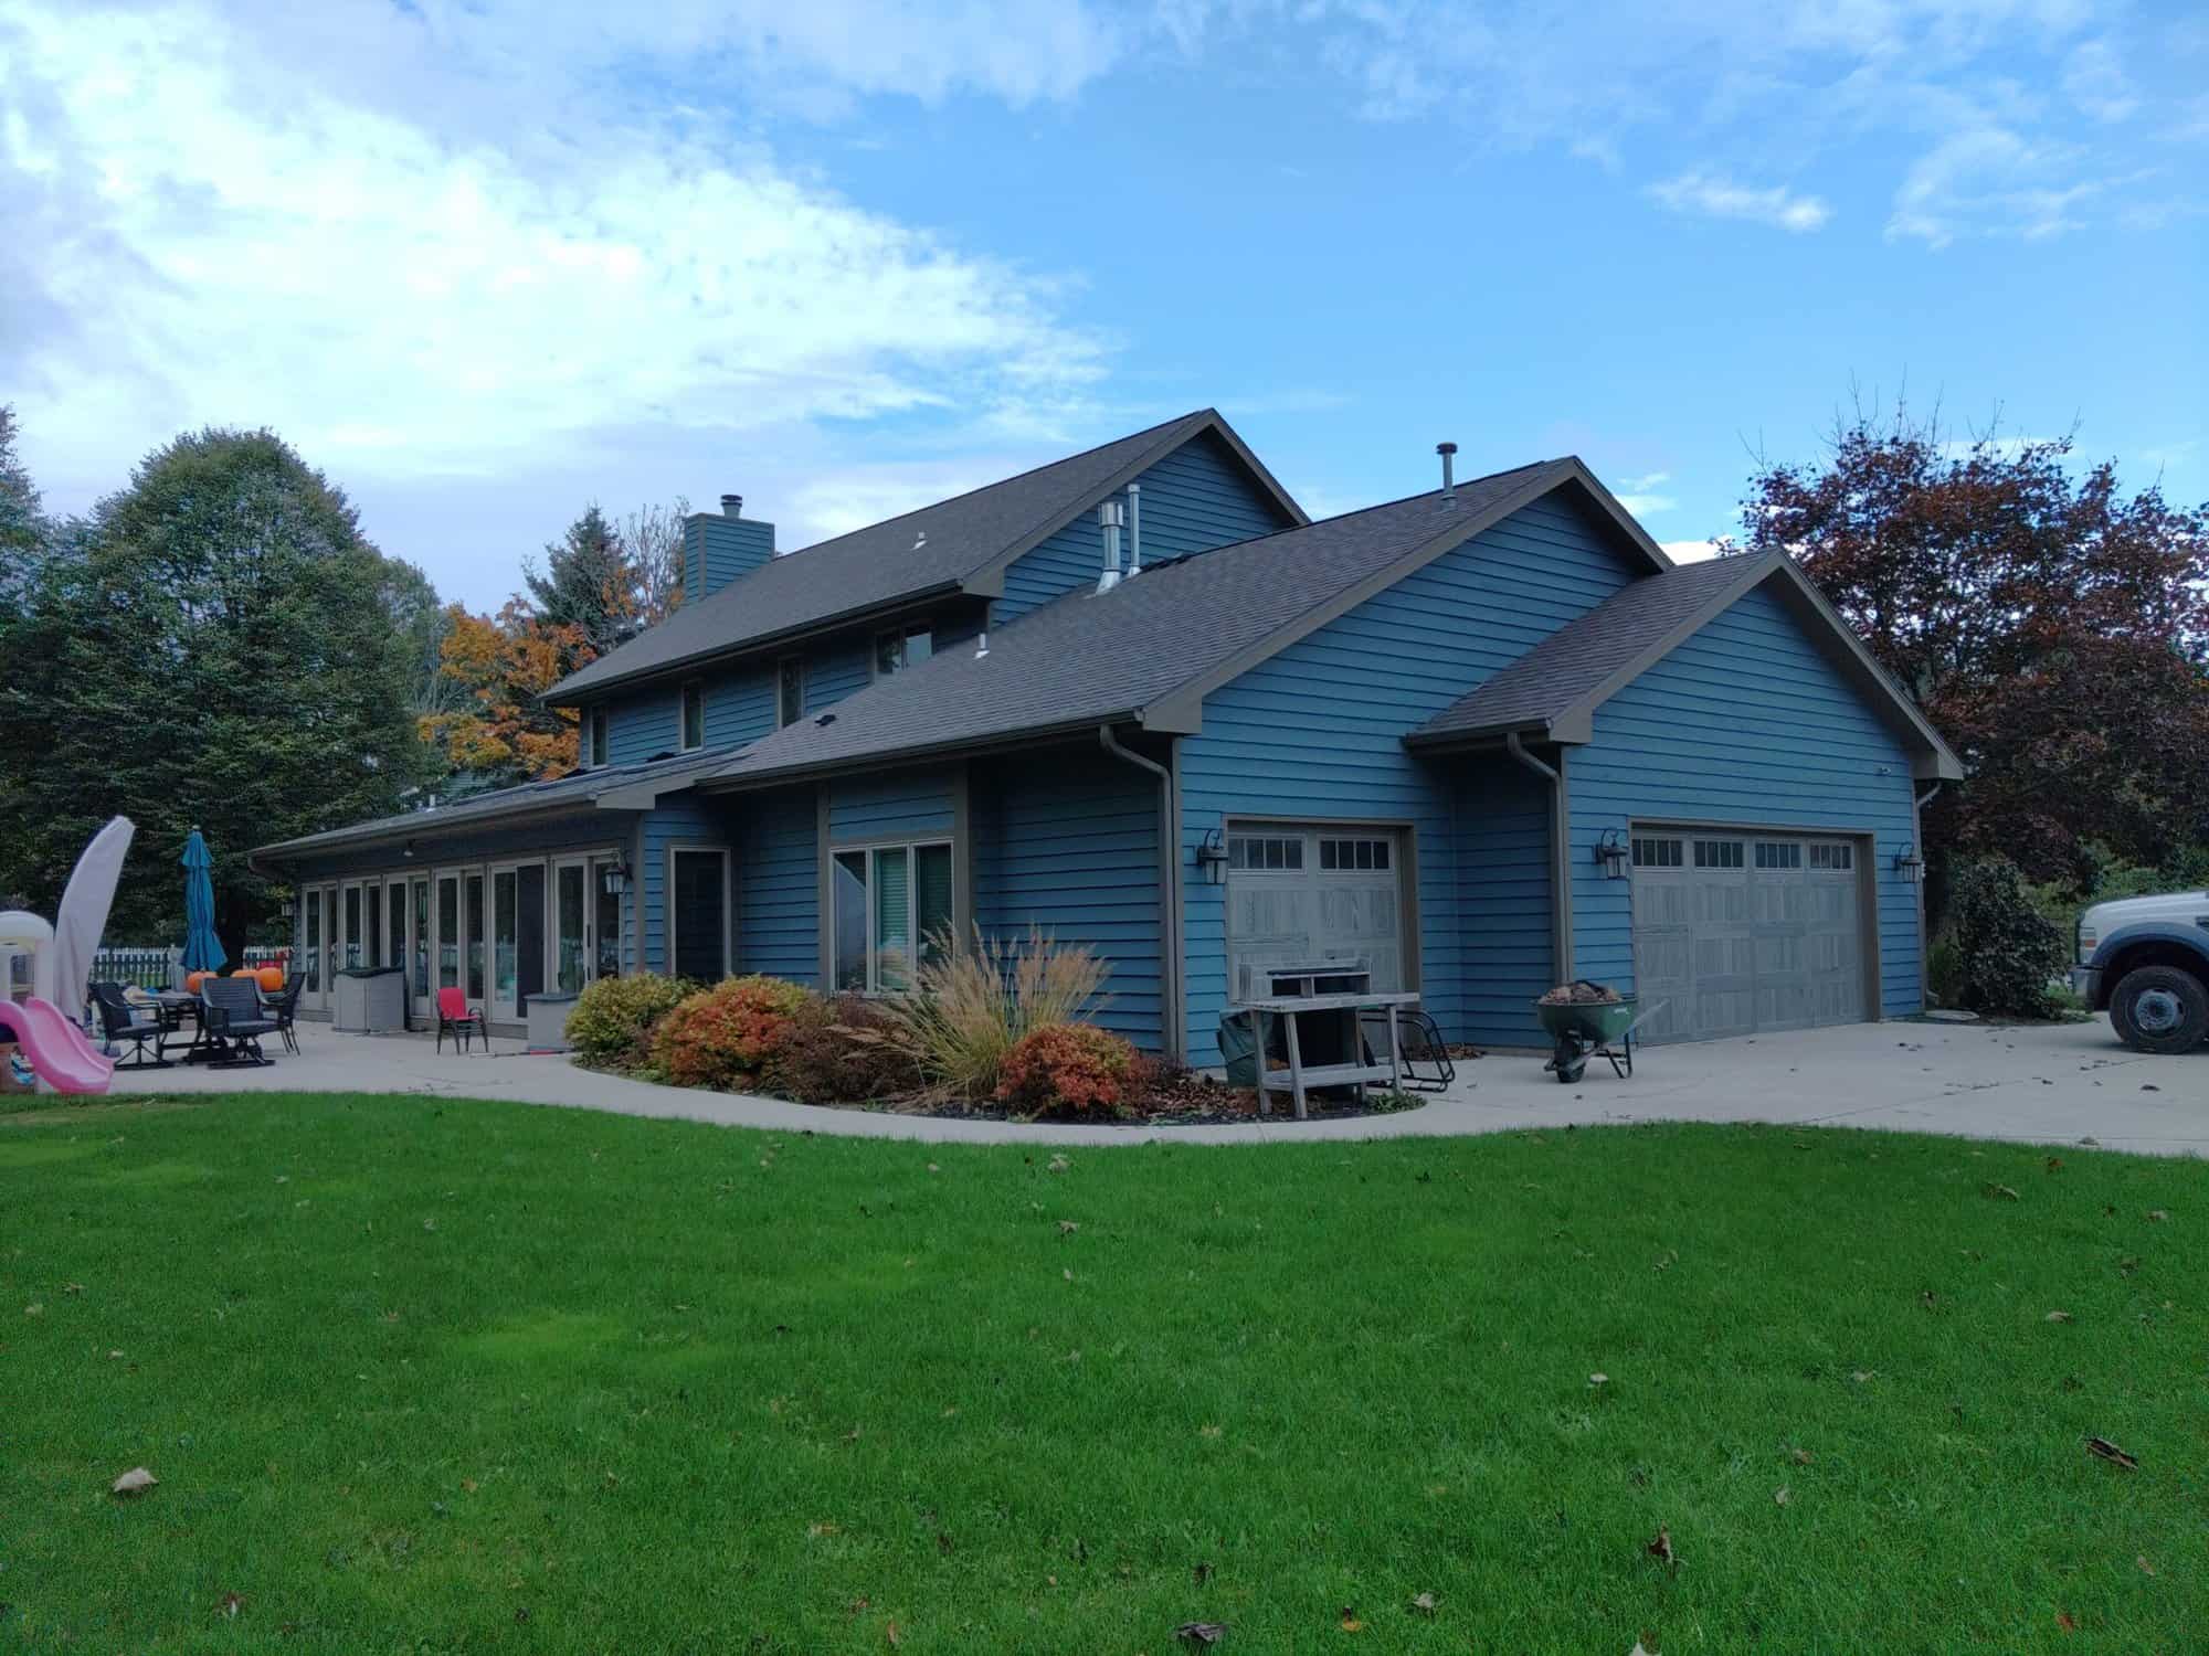
M1836 828L1873 837L1880 1009L1922 1009L1917 885L1893 868L1915 837L1911 757L1767 587L1613 696L1568 771L1579 976L1632 983L1632 883L1595 866L1604 830L1666 817Z

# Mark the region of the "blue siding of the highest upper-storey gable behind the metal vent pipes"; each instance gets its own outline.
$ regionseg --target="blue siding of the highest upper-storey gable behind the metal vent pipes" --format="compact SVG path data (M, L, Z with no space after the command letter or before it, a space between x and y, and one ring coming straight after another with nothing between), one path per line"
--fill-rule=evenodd
M1142 484L1144 563L1272 534L1290 521L1211 433L1182 444L1135 481ZM1124 534L1120 554L1127 556ZM1096 585L1102 567L1104 532L1098 528L1091 501L1058 534L1012 561L1005 570L1005 596L996 601L998 625L1018 620L1076 587Z

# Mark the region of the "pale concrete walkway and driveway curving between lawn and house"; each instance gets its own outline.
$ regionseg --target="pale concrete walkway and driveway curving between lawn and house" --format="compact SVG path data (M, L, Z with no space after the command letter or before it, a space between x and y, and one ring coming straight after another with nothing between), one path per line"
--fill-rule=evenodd
M1617 1080L1602 1060L1557 1086L1540 1055L1500 1053L1458 1064L1458 1084L1425 1108L1354 1122L1253 1126L1014 1126L926 1115L833 1111L742 1093L649 1086L577 1069L566 1058L433 1051L413 1036L340 1036L300 1027L303 1055L269 1069L177 1066L115 1078L121 1095L234 1091L358 1091L499 1097L782 1133L848 1133L943 1144L1288 1144L1500 1133L1617 1122L1785 1122L1964 1133L1988 1139L2112 1150L2209 1155L2209 1051L2141 1058L2103 1018L2083 1025L1851 1025L1787 1036L1657 1047Z

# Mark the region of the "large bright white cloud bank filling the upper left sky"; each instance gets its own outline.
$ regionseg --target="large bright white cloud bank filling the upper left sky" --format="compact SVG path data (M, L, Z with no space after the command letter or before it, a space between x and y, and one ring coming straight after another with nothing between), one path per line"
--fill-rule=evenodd
M764 7L329 7L318 33L0 0L0 382L40 473L104 486L199 422L272 424L387 479L585 473L634 426L1018 424L1100 373L1058 283L583 79L660 31L660 51L786 49L853 88L1054 97L1078 15L811 4L775 9L769 40ZM574 79L526 55L535 31ZM563 104L590 119L548 130Z

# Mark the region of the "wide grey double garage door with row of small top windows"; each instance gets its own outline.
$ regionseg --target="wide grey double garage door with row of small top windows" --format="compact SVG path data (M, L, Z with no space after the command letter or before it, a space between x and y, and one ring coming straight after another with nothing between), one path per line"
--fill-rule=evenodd
M1864 996L1858 841L1632 830L1635 985L1648 1040L1853 1025Z

